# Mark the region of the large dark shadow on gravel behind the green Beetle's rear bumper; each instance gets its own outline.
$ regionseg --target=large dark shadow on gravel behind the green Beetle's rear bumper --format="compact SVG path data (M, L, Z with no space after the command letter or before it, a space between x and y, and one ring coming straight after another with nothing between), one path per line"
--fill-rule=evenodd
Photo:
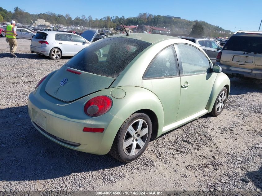
M0 109L0 133L0 181L53 179L123 165L110 155L92 155L51 142L31 124L27 106Z

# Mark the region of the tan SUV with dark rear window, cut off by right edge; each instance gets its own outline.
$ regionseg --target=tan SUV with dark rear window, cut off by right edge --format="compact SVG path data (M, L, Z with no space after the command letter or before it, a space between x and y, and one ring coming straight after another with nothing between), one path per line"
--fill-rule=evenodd
M217 63L230 76L254 78L262 82L262 32L239 31L217 55Z

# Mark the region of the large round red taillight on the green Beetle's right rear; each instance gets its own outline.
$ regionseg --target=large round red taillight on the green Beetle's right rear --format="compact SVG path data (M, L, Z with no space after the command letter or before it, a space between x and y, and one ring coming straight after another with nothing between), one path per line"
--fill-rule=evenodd
M107 96L97 96L86 103L84 112L88 116L100 116L110 110L112 103L112 99Z

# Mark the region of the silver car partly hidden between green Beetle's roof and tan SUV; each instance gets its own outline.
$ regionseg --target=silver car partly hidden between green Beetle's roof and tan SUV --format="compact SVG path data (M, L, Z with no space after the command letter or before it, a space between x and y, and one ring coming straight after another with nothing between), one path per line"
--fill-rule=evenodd
M199 45L211 59L212 63L216 63L216 56L222 49L214 40L209 39L198 39L193 37L181 37L182 39L186 39L189 41L194 42L195 44Z

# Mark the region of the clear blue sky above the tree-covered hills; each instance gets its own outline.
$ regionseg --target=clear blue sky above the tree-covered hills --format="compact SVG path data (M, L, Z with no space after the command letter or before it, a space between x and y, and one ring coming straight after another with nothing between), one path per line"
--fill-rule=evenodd
M13 11L16 6L31 14L48 11L62 15L68 13L73 19L77 16L81 18L82 15L91 15L93 19L107 15L124 15L127 18L144 12L172 15L186 20L202 20L233 32L235 28L236 31L258 31L262 19L262 0L12 0L2 1L0 5L7 11Z

